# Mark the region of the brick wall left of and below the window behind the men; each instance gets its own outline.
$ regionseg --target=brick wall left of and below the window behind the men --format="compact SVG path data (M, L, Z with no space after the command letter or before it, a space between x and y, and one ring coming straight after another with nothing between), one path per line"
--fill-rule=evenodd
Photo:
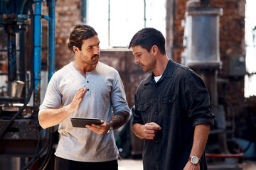
M72 4L72 5L71 5ZM70 52L67 47L70 30L81 23L81 4L79 0L58 0L55 7L55 69L62 68L65 64L74 60L73 52ZM43 13L47 14L46 3L43 4ZM43 35L47 35L48 25L43 23ZM46 50L47 38L43 36L42 50ZM47 63L47 52L42 52L42 61ZM104 62L118 70L122 78L124 89L126 91L127 102L131 108L134 105L134 94L139 85L139 82L146 77L142 69L134 64L134 56L132 52L124 50L101 50L100 62ZM46 67L45 67L46 69Z

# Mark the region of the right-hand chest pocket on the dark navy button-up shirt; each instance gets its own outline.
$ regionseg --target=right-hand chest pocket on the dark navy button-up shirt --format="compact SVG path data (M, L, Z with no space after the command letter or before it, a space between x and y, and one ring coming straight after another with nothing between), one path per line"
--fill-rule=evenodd
M161 117L172 118L176 114L176 94L164 96L161 98Z

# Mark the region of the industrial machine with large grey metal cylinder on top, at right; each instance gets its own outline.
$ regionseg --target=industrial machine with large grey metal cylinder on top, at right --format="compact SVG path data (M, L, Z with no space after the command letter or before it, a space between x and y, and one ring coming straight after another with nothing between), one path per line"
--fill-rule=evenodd
M219 17L222 13L222 8L210 6L209 1L188 1L183 64L197 72L205 81L210 94L210 109L216 116L215 127L210 130L206 146L208 168L240 170L243 153L239 148L236 153L230 152L227 140L228 135L232 137L235 133L234 108L225 95L218 94L218 84L225 86L226 83L217 78L218 69L222 65L219 52ZM227 118L227 115L231 116ZM228 162L228 159L233 161ZM211 162L214 162L214 166Z

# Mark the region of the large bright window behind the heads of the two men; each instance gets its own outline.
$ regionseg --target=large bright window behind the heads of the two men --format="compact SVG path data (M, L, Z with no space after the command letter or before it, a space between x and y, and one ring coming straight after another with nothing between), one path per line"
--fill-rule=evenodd
M166 0L87 0L87 24L97 31L100 47L127 47L144 27L166 33Z

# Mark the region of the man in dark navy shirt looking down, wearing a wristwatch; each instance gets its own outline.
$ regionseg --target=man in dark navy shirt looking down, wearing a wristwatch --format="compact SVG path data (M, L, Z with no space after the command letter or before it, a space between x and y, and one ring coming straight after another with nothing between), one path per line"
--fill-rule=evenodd
M129 48L144 72L136 91L133 131L144 140L144 169L207 169L204 148L215 115L203 79L169 60L164 36L144 28Z

